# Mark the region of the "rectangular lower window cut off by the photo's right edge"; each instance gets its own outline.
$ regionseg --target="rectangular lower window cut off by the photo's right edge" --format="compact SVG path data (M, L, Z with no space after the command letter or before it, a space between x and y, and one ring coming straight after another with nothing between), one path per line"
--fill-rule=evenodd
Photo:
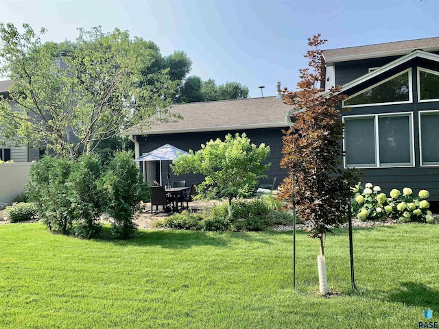
M439 162L439 113L420 114L420 143L422 145L422 164Z

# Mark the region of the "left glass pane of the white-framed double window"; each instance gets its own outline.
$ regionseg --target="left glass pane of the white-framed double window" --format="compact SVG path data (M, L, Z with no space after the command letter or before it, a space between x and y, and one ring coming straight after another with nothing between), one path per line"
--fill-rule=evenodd
M376 166L375 119L346 119L344 122L346 164L353 167Z

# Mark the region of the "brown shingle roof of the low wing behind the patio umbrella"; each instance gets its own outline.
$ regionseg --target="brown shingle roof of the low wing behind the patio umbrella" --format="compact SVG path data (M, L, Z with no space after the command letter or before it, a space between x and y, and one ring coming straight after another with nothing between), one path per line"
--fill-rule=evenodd
M285 112L293 107L282 99L261 97L228 101L174 104L171 112L179 113L182 120L170 119L151 127L133 127L126 134L171 134L173 132L200 132L239 129L240 127L287 127Z

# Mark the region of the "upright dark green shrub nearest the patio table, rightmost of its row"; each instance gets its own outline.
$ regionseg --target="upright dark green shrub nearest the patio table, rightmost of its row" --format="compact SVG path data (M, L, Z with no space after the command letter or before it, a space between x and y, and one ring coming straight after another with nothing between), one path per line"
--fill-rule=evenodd
M127 239L137 229L133 220L141 210L140 202L150 197L150 189L143 182L131 151L115 154L102 179L108 204L108 215L114 220L112 234L117 239Z

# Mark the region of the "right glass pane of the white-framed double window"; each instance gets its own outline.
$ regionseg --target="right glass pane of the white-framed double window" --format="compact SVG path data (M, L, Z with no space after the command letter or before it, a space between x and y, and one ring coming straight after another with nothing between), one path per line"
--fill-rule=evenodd
M411 164L410 121L401 117L379 117L379 161L381 164Z

